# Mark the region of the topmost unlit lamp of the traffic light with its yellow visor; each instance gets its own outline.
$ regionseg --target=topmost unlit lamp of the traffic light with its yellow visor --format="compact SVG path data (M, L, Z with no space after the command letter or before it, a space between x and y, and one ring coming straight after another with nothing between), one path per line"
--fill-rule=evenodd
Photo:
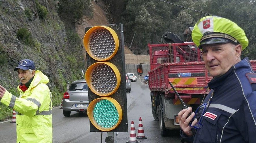
M116 32L106 26L94 26L84 35L84 47L90 57L97 61L107 61L118 50L119 40Z

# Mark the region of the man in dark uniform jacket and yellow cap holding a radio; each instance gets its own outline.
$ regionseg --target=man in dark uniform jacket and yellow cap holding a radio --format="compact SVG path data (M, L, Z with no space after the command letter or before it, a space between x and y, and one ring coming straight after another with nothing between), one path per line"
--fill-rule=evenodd
M192 39L214 78L195 113L189 107L178 114L182 142L255 143L256 74L248 58L240 58L248 46L244 30L229 19L206 16L195 24Z

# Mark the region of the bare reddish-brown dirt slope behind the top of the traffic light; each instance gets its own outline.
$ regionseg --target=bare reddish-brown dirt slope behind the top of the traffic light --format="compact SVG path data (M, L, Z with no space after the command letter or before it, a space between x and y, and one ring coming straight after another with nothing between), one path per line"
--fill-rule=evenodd
M98 25L108 25L110 24L108 22L107 16L106 16L106 11L101 7L101 5L104 5L104 3L100 0L97 0L97 3L95 1L92 1L93 3L93 18L84 22L81 25L76 26L76 31L78 35L81 37L81 39L84 39L84 28L85 27L91 27L91 26L98 26ZM125 54L133 54L131 50L125 46Z

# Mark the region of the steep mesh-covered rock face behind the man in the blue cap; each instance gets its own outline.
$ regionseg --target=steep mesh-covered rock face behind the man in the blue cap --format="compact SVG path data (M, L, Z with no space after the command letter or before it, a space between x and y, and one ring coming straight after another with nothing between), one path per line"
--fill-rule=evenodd
M46 18L40 19L33 0L0 1L0 58L4 59L0 62L0 84L14 95L18 77L13 69L21 59L35 61L37 70L49 77L53 100L63 95L67 81L83 77L82 44L74 47L73 39L68 38L71 34L57 14L56 2L38 1L48 10Z

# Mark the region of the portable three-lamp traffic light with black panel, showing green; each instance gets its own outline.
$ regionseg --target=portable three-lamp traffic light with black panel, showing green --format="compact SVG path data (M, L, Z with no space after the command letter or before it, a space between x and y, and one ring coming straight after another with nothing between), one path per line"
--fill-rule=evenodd
M91 132L127 132L123 24L85 28Z

